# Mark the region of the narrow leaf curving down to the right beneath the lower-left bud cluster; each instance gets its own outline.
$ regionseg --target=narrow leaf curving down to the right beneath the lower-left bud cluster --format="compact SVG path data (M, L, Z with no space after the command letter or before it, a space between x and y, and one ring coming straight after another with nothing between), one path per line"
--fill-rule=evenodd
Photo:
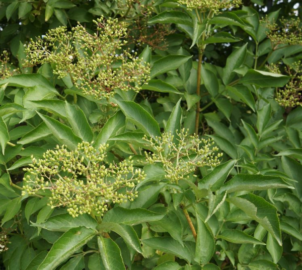
M101 225L98 226L97 229L98 231L102 232L113 231L117 233L124 239L125 243L128 246L130 246L137 252L142 253L137 234L131 226L125 224L117 224L115 222L103 222Z

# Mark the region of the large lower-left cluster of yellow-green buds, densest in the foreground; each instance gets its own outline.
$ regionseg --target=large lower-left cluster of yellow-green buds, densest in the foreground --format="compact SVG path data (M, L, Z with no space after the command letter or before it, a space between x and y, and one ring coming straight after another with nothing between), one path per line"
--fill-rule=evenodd
M74 151L65 146L48 150L43 159L32 158L24 177L23 194L49 193L49 206L67 207L72 217L88 213L103 216L108 206L137 197L135 183L144 179L143 171L131 161L106 165L106 148L90 143L78 144ZM42 193L42 194L43 194Z

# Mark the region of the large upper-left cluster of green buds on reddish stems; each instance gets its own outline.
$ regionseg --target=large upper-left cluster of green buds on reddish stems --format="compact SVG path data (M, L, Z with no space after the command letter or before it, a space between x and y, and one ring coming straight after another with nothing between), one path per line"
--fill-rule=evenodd
M66 27L51 29L26 46L25 66L52 63L58 78L70 76L75 86L96 99L109 98L114 90L139 91L150 79L150 67L129 49L125 23L103 17L94 21L97 32L78 24L71 32Z

